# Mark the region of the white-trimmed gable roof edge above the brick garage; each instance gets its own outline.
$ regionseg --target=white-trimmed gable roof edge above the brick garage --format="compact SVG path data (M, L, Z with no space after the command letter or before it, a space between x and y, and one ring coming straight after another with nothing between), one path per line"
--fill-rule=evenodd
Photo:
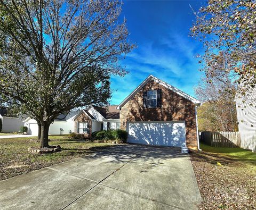
M188 100L190 100L191 102L193 102L194 104L200 104L201 102L199 100L197 100L196 98L186 94L185 92L183 92L182 90L175 88L174 86L171 86L170 84L164 82L161 79L158 79L156 77L154 77L153 75L149 75L135 90L132 91L132 93L127 96L123 102L121 102L121 104L119 104L119 106L117 107L118 109L121 108L123 105L125 105L135 94L137 94L139 92L139 90L141 88L143 88L150 80L154 80L155 82L159 83L160 85L172 90L174 93L177 93L178 95L182 96L183 98L186 98Z

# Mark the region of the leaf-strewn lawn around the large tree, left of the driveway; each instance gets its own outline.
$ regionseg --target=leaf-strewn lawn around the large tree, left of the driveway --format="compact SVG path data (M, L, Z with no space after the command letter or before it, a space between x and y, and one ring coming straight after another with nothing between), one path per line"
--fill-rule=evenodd
M94 149L103 149L112 144L94 143L64 139L59 136L49 137L50 145L60 145L61 152L52 154L31 154L28 147L37 147L38 142L30 141L31 137L0 139L0 180L19 174L41 169L76 157L93 153Z

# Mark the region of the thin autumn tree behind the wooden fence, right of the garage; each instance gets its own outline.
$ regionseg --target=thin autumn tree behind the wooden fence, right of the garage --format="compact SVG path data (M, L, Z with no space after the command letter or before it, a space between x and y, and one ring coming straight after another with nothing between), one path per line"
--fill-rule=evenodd
M195 94L204 102L198 107L200 131L237 131L236 84L226 75L202 78Z

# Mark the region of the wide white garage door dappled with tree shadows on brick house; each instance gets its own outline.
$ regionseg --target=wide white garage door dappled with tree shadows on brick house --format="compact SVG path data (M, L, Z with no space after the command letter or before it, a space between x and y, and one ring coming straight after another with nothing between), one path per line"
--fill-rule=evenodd
M129 122L129 143L186 147L185 122Z

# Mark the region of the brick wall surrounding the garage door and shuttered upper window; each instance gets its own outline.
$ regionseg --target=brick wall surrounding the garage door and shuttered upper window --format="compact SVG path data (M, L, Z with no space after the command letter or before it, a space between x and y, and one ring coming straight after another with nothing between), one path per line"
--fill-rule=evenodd
M162 107L143 107L143 92L162 89ZM150 80L120 111L121 129L127 121L185 121L187 147L197 150L195 104Z

